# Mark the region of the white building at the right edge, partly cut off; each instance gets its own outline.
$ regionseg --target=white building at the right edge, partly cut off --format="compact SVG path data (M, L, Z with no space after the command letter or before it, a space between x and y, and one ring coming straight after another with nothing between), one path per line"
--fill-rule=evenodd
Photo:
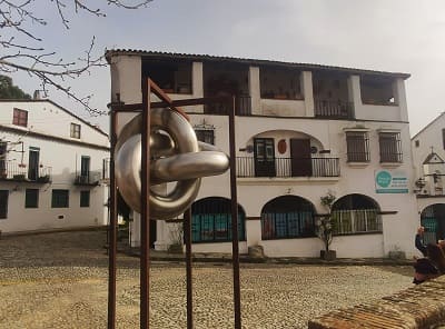
M445 238L445 113L412 138L416 193L427 242Z

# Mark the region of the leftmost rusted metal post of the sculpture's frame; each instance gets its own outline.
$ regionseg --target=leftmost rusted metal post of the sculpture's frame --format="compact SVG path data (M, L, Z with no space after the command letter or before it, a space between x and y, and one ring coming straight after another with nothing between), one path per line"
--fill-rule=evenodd
M117 253L117 185L115 177L115 147L117 142L117 112L111 111L110 154L110 223L108 228L108 329L116 328L116 253Z

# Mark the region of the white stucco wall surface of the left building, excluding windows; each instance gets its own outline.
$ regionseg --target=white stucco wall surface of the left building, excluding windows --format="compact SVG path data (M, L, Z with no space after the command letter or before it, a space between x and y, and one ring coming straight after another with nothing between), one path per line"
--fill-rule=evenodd
M102 180L103 160L109 158L107 136L89 127L83 121L62 111L48 101L0 102L0 113L4 122L12 122L12 109L19 106L29 111L28 128L8 124L0 127L0 141L8 142L6 163L8 168L20 169L27 176L30 148L39 150L39 166L49 168L51 181L0 181L0 190L7 190L8 215L0 219L0 230L18 232L55 228L103 226L108 221L108 186ZM52 109L52 111L50 110ZM36 116L37 113L37 116ZM81 138L69 137L71 122L81 126ZM68 129L67 129L68 127ZM22 144L13 146L21 141ZM12 142L12 143L11 143ZM23 152L21 152L23 150ZM76 175L80 175L81 157L90 158L90 177L98 178L96 187L75 186ZM38 189L38 208L26 208L26 190ZM53 189L69 191L68 208L51 208ZM90 191L90 206L80 207L80 191Z

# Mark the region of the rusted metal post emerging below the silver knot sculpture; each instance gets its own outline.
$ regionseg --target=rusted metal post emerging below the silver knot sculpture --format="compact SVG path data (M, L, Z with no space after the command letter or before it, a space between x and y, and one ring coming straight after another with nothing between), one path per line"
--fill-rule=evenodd
M186 240L186 273L187 273L187 329L194 328L194 287L191 277L191 208L184 212L184 238Z

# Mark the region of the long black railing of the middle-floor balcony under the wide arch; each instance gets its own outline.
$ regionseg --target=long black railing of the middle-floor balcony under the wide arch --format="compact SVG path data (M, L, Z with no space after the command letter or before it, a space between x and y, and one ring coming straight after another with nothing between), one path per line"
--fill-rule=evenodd
M237 177L339 177L338 158L237 158Z

